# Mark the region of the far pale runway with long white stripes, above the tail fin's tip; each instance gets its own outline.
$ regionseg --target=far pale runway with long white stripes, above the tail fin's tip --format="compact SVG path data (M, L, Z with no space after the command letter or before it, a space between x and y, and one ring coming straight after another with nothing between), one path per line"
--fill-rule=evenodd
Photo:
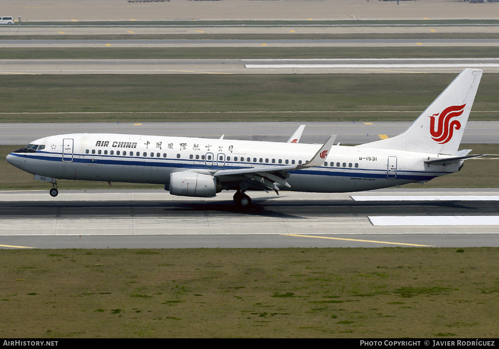
M0 66L0 75L460 73L469 67L498 73L499 58L0 59Z

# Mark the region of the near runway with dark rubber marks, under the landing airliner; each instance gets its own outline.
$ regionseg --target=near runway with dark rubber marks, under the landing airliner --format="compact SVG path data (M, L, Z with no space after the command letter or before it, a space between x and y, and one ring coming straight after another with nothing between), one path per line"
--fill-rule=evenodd
M499 246L499 190L440 189L438 200L435 191L281 192L281 196L252 192L254 205L249 211L235 207L232 193L207 199L179 198L162 190L61 190L52 198L46 191L3 191L0 244L1 248ZM378 199L385 195L397 197ZM441 223L377 225L377 216L433 216ZM454 220L445 221L446 217ZM484 225L477 225L477 219Z

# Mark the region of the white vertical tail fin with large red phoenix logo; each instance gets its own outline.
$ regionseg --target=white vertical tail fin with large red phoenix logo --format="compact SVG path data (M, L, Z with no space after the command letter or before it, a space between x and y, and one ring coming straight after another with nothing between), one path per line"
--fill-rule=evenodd
M404 133L361 147L457 155L482 73L463 70Z

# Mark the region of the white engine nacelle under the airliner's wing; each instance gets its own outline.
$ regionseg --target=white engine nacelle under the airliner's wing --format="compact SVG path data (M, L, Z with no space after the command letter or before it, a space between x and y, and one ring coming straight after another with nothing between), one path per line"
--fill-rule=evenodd
M210 174L190 171L170 174L170 194L178 196L213 197L222 189L217 178Z

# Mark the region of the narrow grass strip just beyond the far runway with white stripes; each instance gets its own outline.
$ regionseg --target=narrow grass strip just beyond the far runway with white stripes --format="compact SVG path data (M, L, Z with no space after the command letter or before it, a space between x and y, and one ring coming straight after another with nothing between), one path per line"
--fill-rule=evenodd
M0 59L497 58L496 47L4 47Z

